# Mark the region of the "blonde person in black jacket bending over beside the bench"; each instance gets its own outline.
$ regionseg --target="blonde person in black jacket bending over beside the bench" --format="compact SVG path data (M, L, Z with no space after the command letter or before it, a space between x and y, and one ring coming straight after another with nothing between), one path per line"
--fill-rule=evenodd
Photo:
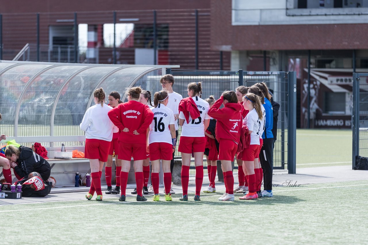
M50 177L50 164L29 147L21 145L17 148L9 145L5 150L5 156L10 160L10 166L22 178L28 177L31 172L38 172L43 181L47 181Z

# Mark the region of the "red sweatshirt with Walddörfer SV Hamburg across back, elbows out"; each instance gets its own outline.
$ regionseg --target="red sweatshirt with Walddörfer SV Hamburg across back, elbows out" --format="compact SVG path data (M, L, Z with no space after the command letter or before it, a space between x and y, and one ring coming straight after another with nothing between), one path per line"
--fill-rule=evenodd
M109 115L114 125L121 130L118 141L146 144L146 130L153 120L153 112L147 105L131 100L120 103L110 110L107 115ZM125 127L129 129L129 132L122 131ZM133 134L134 130L137 130L139 134Z

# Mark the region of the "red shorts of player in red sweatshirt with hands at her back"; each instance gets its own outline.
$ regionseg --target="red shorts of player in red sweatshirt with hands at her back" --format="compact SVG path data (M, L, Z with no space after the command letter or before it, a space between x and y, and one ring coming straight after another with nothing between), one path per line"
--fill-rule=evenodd
M133 157L134 161L144 160L147 158L146 144L127 144L119 142L118 159L130 161Z

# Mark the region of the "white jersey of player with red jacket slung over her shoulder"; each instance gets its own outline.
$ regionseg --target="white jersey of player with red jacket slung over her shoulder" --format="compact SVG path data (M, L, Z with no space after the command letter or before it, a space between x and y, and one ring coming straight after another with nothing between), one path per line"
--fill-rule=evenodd
M195 104L199 110L199 118L192 120L189 115L189 123L185 120L184 113L181 111L179 114L180 119L184 119L184 125L181 128L181 136L187 137L204 137L205 127L204 119L210 119L211 117L207 114L209 110L209 104L205 100L202 100L198 96L193 97Z

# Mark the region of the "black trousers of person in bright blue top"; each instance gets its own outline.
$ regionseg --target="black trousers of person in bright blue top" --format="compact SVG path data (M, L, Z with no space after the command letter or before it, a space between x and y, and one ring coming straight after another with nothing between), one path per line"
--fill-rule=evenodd
M259 153L259 161L263 170L264 190L272 190L273 145L273 138L263 139L263 146Z

